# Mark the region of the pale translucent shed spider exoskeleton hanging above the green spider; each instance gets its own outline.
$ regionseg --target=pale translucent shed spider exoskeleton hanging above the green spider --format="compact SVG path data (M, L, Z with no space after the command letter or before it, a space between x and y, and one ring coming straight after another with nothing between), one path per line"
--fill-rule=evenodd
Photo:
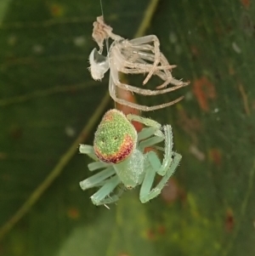
M169 65L167 58L161 54L160 42L154 35L139 37L132 40L124 39L112 32L111 26L107 26L100 16L94 22L92 36L99 45L99 51L94 48L89 55L91 75L94 80L101 80L105 72L110 69L109 91L111 98L121 105L127 105L141 111L154 111L168 105L173 105L184 97L179 97L171 102L146 106L138 105L127 100L122 100L116 95L116 87L122 88L142 95L157 95L172 92L178 88L188 85L190 82L183 82L173 78L172 69L176 65ZM113 43L107 56L102 54L104 40L111 38ZM156 87L156 90L137 88L120 81L118 72L125 74L145 74L143 84L150 80L152 75L160 77L163 82ZM166 88L167 84L173 84L172 88Z

